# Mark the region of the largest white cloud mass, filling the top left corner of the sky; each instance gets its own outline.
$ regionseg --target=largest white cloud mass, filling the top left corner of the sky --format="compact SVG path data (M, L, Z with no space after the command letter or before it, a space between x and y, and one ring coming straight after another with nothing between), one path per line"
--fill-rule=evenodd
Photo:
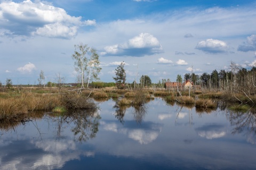
M70 16L63 8L46 2L0 3L0 25L13 35L71 38L78 27L94 24L95 20L82 21L81 17Z

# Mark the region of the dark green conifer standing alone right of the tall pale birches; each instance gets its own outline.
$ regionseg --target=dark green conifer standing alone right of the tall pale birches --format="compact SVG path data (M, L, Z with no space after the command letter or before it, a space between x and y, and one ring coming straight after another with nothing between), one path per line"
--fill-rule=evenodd
M124 70L124 61L117 67L115 73L116 77L113 77L113 79L116 81L116 85L118 89L124 88L125 81L126 81L126 73Z

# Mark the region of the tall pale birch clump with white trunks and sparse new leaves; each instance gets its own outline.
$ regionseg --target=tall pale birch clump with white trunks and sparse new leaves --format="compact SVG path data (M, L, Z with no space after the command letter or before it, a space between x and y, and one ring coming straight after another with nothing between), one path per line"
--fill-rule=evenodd
M101 70L99 55L94 48L88 45L75 45L75 52L72 55L75 60L75 70L80 74L82 87L84 88L84 81L87 79L87 87L92 80L99 80L98 74Z

